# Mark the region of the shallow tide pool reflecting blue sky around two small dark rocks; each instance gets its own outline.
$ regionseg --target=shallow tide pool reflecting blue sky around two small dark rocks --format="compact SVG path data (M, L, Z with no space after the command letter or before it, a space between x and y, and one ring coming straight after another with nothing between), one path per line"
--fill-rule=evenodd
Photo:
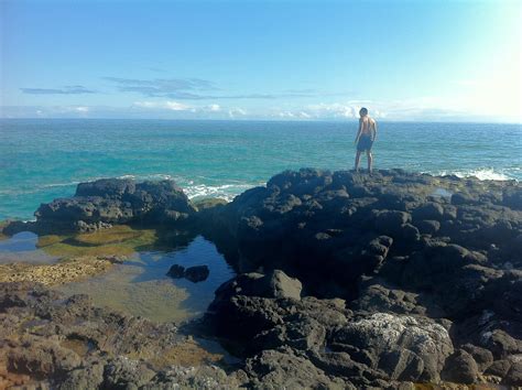
M198 283L171 279L165 274L173 264L207 266L210 274ZM104 275L57 289L66 294L89 294L96 305L152 321L180 323L203 315L216 289L233 275L216 246L198 236L185 248L142 251Z

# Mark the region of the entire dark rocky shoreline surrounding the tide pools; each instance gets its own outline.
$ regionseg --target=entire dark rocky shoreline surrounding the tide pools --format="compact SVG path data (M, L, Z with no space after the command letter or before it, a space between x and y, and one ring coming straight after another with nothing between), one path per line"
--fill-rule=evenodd
M3 232L102 231L111 224L138 224L196 231L214 241L238 277L216 291L197 328L219 337L241 359L227 372L215 369L214 387L522 386L522 186L516 182L304 169L275 175L231 203L198 207L173 182L105 180L78 185L73 198L42 205L36 218L10 224ZM34 294L50 294L39 289L2 284L4 327L39 313L28 303ZM21 311L29 311L25 317ZM55 326L61 321L51 319ZM2 349L13 337L32 335L24 327L7 328ZM175 329L160 332L157 338L174 335ZM22 344L9 348L20 356L35 351ZM149 358L132 361L153 371L149 384L127 373L118 383L168 387L161 378L171 377ZM6 364L12 376L28 375L25 366ZM77 367L51 368L45 377L61 387ZM89 371L93 362L79 367ZM112 383L109 372L124 371L111 369L108 360L101 367L101 388ZM168 383L205 387L206 379L196 377Z

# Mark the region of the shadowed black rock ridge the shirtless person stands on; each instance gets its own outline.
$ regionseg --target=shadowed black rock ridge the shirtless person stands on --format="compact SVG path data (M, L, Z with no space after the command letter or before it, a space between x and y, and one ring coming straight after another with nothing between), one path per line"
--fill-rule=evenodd
M441 188L454 195L466 191L477 202L452 204L436 195ZM351 300L359 278L379 272L395 284L423 289L446 271L457 278L468 264L494 269L501 262L519 263L514 248L522 248L522 213L504 202L519 192L514 182L401 170L372 176L285 171L265 187L248 189L211 210L206 235L241 272L281 269L298 278L308 294ZM380 242L388 249L372 252L379 237L390 238ZM416 283L410 282L412 277Z

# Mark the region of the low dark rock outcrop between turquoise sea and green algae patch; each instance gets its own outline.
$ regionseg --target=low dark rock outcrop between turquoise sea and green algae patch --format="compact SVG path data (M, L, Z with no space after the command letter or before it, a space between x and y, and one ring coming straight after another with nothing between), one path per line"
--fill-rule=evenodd
M75 196L42 204L35 212L37 231L95 231L112 224L165 225L186 221L196 213L174 181L135 183L102 178L80 183Z

